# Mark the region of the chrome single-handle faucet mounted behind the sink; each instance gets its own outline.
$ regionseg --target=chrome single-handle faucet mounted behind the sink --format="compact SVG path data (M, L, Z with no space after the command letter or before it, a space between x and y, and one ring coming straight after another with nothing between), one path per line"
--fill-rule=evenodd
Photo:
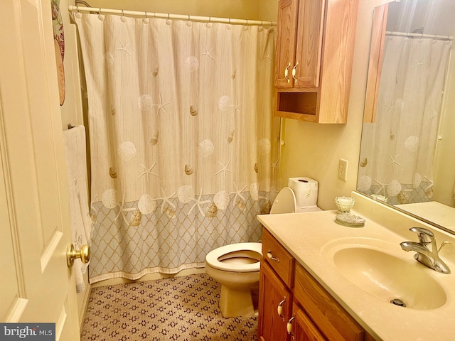
M429 229L425 229L424 227L411 227L410 231L417 233L419 242L402 242L400 243L400 247L405 251L416 251L417 253L414 254L414 258L424 264L424 266L428 266L430 269L441 272L442 274L450 274L449 266L439 258L439 250L441 247L450 243L443 242L438 249L434 234ZM430 246L431 249L429 249L428 246Z

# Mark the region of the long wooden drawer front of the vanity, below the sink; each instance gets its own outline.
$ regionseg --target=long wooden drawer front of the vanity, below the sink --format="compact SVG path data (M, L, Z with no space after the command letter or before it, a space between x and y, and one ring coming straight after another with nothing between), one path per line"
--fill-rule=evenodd
M363 328L300 264L296 264L294 286L294 298L328 340L363 340Z

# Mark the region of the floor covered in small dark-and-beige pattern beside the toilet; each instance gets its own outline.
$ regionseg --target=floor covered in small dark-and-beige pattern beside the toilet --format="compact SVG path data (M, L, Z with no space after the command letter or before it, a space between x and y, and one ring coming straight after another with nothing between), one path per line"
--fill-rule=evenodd
M223 318L207 274L92 288L81 340L257 340L257 318Z

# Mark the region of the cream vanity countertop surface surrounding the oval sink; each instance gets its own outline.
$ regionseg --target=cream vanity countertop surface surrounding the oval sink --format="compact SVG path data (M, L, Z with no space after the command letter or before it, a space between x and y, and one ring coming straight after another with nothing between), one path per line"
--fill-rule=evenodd
M368 205L378 204L370 202ZM402 232L409 228L402 226L403 221L407 221L408 218L400 214L397 221L400 229L393 231L376 222L378 215L383 215L381 210L384 208L380 207L380 212L370 210L373 212L371 219L353 210L354 215L365 218L365 227L345 227L337 224L336 211L259 215L258 219L296 258L296 261L299 261L376 340L455 340L455 301L452 299L455 293L453 261L455 240L451 240L452 245L447 247L445 253L443 250L440 254L441 259L451 268L452 274L439 274L415 261L414 252L402 251L400 242L417 241L417 235L413 232L409 234ZM394 215L395 212L391 214ZM393 222L390 217L386 220ZM416 220L410 220L410 226L427 227L424 224L416 224L418 222ZM403 237L402 234L407 235ZM438 246L442 240L450 240L454 236L447 234L443 237L444 239L441 239L437 232ZM412 266L419 267L419 271L429 271L429 275L446 291L446 303L439 308L419 310L392 305L387 300L382 301L371 296L336 268L333 262L333 249L343 242L371 244L409 261ZM410 278L410 281L412 280L413 278Z

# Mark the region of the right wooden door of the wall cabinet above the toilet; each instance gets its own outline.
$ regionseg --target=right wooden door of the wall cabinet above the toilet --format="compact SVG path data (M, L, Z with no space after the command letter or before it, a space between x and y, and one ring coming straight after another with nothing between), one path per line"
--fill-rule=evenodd
M291 71L294 87L319 87L325 2L299 2L296 54Z

